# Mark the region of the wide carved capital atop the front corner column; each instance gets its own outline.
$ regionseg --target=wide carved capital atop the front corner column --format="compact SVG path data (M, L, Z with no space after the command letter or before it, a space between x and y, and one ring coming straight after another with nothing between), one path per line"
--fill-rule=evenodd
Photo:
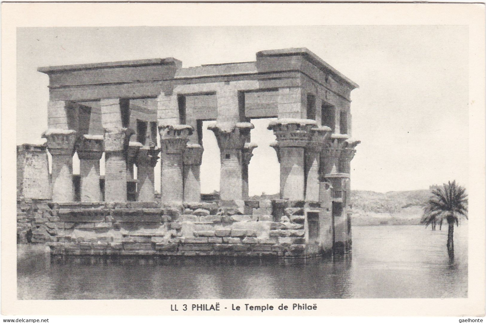
M316 125L310 119L278 119L271 121L267 129L274 131L279 147L306 147Z

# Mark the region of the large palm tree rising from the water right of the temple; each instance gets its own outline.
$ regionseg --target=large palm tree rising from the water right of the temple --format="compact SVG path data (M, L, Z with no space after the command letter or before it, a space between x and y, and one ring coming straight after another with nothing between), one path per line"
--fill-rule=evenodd
M435 187L432 190L432 196L427 201L424 207L424 216L422 223L426 227L429 224L435 227L435 222L439 221L439 229L442 228L442 221L446 220L449 224L449 232L447 234L447 251L449 256L454 256L454 223L459 225L459 218L465 217L468 219L468 195L466 189L456 185L455 181L444 184L443 187Z

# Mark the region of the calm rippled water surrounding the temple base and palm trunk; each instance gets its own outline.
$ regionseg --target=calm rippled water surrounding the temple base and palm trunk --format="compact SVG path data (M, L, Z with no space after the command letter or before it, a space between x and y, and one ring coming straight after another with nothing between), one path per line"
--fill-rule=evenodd
M60 258L17 262L19 299L443 298L468 295L468 228L353 227L352 257L306 261Z

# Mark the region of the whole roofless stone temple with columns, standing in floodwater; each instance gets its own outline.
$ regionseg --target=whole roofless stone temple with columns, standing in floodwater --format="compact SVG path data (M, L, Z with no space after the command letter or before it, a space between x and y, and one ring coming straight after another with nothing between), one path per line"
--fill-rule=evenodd
M311 51L190 68L163 58L38 71L50 80L47 142L17 146L20 243L45 243L52 255L350 251L350 162L359 143L351 139L350 92L358 85ZM258 118L277 118L268 125L280 163L276 200L248 198L250 120ZM207 120L220 149L220 197L201 201Z

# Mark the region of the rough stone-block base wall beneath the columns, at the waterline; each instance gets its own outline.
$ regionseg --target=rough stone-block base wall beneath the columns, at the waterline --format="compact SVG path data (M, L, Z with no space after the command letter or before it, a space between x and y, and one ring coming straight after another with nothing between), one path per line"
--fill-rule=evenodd
M330 253L329 211L303 201L163 204L19 201L17 240L51 255L251 256Z

